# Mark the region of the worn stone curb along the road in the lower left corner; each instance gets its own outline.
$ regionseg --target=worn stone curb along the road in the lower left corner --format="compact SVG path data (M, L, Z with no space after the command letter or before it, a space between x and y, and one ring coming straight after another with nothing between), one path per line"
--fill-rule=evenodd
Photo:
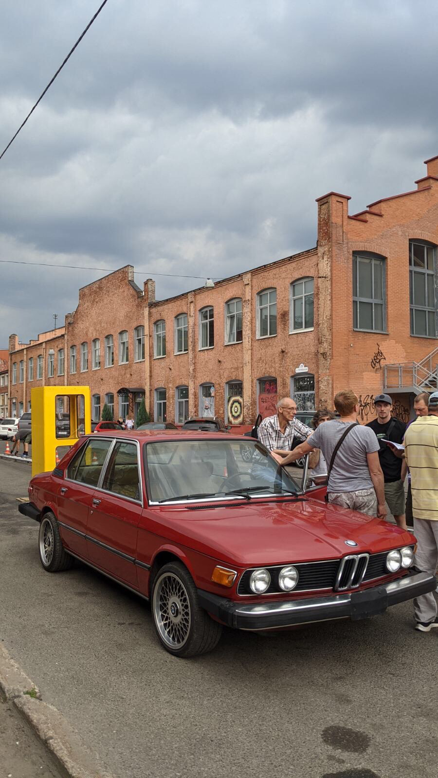
M0 646L0 695L12 703L34 729L69 778L113 778L83 745L62 713L44 703L41 692Z

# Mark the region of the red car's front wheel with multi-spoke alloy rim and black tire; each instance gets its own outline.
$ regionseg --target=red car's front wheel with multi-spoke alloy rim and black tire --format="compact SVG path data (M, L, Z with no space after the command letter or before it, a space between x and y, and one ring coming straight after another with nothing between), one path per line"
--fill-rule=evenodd
M181 562L168 562L158 570L152 617L161 644L175 657L207 654L221 637L222 625L200 608L193 578Z

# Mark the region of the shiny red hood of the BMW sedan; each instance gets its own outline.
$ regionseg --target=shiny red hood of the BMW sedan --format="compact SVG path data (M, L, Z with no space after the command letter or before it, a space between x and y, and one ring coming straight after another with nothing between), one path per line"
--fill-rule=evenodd
M204 510L163 506L154 511L154 521L161 524L160 534L169 540L237 566L339 559L413 542L412 534L385 521L313 499L254 501Z

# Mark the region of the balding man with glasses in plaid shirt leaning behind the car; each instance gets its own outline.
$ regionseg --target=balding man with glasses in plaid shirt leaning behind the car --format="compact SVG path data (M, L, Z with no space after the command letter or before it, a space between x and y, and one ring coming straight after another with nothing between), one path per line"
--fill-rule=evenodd
M290 397L284 397L277 403L277 413L263 419L257 429L257 436L260 443L267 447L267 450L290 451L294 436L300 440L306 440L309 435L312 435L313 429L300 422L299 419L295 419L296 412L295 401Z

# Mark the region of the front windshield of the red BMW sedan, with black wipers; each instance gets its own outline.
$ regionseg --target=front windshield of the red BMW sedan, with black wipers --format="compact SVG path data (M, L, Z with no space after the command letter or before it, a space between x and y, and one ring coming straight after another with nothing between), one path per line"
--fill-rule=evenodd
M256 440L169 440L147 443L144 450L152 503L298 494Z

